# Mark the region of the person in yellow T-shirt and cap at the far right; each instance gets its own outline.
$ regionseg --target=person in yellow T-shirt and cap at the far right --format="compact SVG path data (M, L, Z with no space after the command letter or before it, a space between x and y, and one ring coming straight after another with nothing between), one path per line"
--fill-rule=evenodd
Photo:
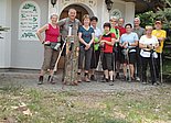
M157 58L157 78L159 79L160 75L160 67L161 67L161 60L162 60L162 52L163 52L163 45L164 45L164 40L167 37L167 32L162 30L162 22L160 20L157 20L154 23L154 29L152 31L152 35L157 36L159 41L159 47L156 49L158 54Z

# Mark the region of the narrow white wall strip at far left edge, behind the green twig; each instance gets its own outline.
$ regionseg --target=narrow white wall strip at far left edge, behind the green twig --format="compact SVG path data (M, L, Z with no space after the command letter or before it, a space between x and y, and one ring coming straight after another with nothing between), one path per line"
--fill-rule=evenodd
M11 0L0 0L0 25L10 27L0 38L0 68L11 66Z

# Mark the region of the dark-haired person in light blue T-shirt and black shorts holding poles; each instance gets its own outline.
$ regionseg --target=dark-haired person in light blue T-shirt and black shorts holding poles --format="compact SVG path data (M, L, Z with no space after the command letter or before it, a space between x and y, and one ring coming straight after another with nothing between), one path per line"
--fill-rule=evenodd
M128 58L124 60L124 76L125 80L127 78L127 64L130 70L130 78L135 80L135 67L133 64L136 63L136 46L138 45L138 35L137 33L132 32L132 25L130 23L125 25L126 33L120 37L120 46L124 48L122 53Z

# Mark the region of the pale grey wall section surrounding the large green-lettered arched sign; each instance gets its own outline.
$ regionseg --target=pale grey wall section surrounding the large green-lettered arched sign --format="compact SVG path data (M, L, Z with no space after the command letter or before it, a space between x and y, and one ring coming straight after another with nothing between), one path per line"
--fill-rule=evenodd
M25 1L25 0L24 0ZM41 9L41 26L47 23L49 1L33 0ZM23 0L12 0L12 60L13 68L40 69L43 62L43 45L39 41L19 41L19 8Z

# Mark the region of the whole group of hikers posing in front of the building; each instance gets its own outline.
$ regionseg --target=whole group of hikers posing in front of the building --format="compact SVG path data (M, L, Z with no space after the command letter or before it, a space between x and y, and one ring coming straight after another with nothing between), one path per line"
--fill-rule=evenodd
M51 15L51 23L38 30L36 34L44 44L44 62L39 77L43 83L45 71L50 71L47 81L53 80L56 60L65 56L63 83L78 85L83 80L96 80L98 65L104 70L103 80L114 86L115 79L137 80L147 83L147 68L150 67L151 83L158 85L161 77L163 42L167 33L162 22L157 20L154 30L151 25L140 26L140 19L135 18L133 25L122 18L111 16L97 27L98 18L85 14L82 23L76 19L76 10L68 10L68 18L57 22L57 15ZM124 26L125 25L125 26ZM41 33L45 32L45 38ZM61 37L61 38L58 38ZM99 64L101 62L101 64ZM124 77L120 75L122 68ZM84 72L83 72L84 71ZM84 79L82 75L84 74Z

